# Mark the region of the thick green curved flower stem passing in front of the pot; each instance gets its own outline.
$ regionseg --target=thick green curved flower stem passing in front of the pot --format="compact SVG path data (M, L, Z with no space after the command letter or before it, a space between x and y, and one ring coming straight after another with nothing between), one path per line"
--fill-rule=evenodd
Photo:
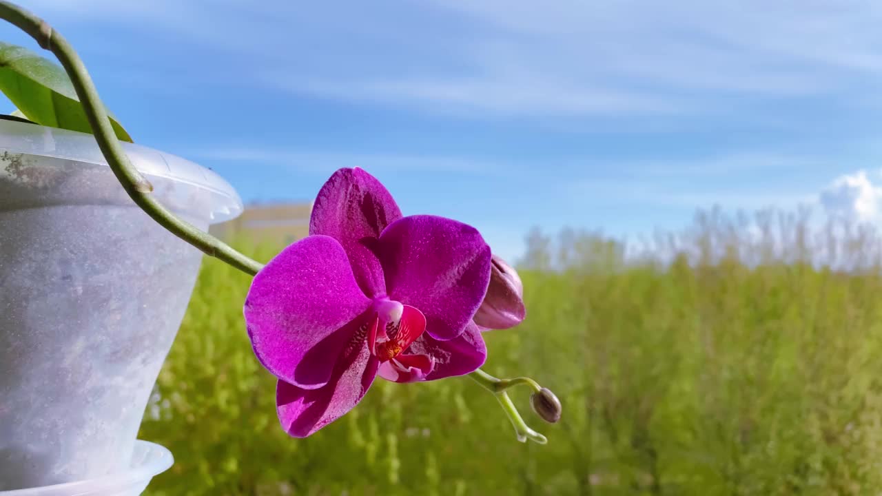
M190 222L172 214L168 208L163 207L153 197L153 185L141 176L137 169L131 165L129 157L125 154L116 133L110 125L104 105L98 97L98 91L86 71L86 66L77 56L77 52L64 39L64 36L56 33L49 24L26 11L16 4L0 0L0 18L9 21L29 34L41 48L48 49L58 58L71 78L73 87L77 92L79 101L83 104L89 125L98 141L101 153L108 161L110 169L123 184L123 189L138 207L141 207L154 221L168 229L176 237L197 247L206 255L221 259L229 265L247 274L257 274L263 267L258 261L250 259L240 252L236 252L231 246L223 243L220 239L193 226Z

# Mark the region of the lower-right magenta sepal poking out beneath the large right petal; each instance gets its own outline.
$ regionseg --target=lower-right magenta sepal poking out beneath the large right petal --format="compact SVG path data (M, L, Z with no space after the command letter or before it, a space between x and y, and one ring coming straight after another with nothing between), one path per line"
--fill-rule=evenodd
M435 367L424 380L437 380L475 372L487 360L487 347L481 331L474 322L469 322L462 334L450 341L438 341L429 334L422 334L399 358L411 354L432 357Z

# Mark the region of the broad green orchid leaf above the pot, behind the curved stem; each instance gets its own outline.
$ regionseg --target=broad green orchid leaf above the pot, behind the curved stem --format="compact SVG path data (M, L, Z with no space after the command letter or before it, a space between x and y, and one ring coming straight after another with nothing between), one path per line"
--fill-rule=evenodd
M29 49L0 41L0 91L19 108L20 116L37 124L92 133L64 69ZM116 138L131 142L116 117L109 111L108 116Z

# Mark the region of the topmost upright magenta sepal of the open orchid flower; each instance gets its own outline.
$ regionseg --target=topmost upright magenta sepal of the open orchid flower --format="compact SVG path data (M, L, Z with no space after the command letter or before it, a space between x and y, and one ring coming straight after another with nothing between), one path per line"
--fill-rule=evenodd
M310 234L330 236L343 245L355 280L368 297L385 295L383 270L372 252L383 229L401 218L385 186L363 169L340 169L318 192Z

